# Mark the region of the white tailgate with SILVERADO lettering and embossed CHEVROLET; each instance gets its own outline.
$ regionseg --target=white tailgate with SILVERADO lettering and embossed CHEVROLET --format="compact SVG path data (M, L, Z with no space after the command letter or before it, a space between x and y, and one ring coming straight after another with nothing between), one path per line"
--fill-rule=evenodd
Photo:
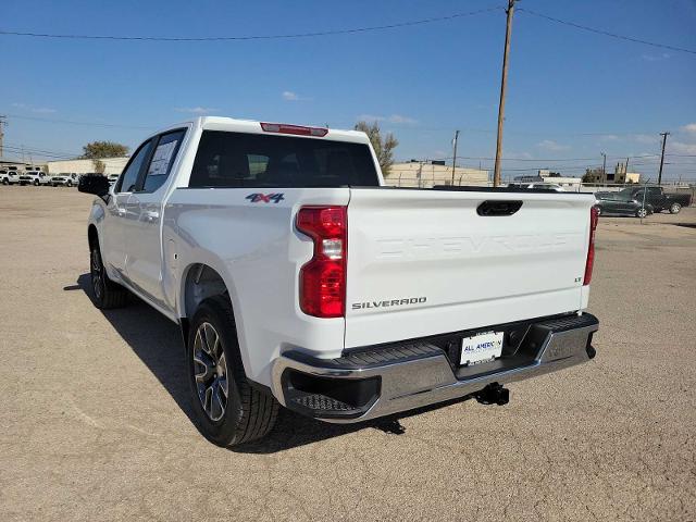
M522 206L480 215L485 201ZM568 192L351 189L345 346L580 310L593 204Z

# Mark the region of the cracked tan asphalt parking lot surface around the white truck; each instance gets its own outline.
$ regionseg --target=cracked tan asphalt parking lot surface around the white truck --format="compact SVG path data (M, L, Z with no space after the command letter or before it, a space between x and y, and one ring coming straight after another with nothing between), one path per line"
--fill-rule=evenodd
M694 520L696 208L600 219L597 358L406 433L189 421L177 327L86 294L90 196L0 187L0 520Z

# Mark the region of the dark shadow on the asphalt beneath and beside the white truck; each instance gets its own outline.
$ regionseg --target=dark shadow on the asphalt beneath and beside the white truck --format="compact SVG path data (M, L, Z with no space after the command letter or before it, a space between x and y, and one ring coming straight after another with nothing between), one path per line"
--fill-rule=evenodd
M78 288L91 300L89 274L82 274L77 278L77 285L66 286L64 290ZM136 297L132 299L133 301L125 308L100 311L198 428L188 390L184 348L178 327L140 299ZM413 410L400 414L399 418L403 419L462 400L465 399ZM229 449L244 453L275 453L365 428L376 428L389 434L403 433L397 418L357 424L328 424L281 408L275 427L269 436L262 440Z

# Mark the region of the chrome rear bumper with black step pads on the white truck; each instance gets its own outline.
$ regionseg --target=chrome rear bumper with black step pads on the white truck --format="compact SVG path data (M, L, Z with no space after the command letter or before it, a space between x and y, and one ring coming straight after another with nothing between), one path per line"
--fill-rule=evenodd
M274 362L273 391L300 413L326 422L360 422L586 362L595 356L591 343L598 328L591 314L531 322L515 353L464 369L426 340L332 360L286 352Z

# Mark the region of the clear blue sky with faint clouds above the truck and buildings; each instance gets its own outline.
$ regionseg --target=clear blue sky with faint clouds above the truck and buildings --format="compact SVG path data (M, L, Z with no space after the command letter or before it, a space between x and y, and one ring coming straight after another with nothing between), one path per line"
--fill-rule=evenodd
M0 29L272 35L387 25L504 3L4 0ZM696 49L693 0L523 0L518 5ZM39 149L54 156L79 152L94 139L133 147L149 127L209 113L333 127L378 119L399 139L399 159L450 157L459 128L458 156L490 158L504 37L502 10L298 39L142 42L0 35L0 114L10 115L5 156L21 146L32 149L35 159ZM599 165L601 151L613 166L620 157L658 153L658 133L670 130L668 176L696 179L696 54L608 38L520 11L512 30L506 116L505 156L534 161L508 160L504 175L536 167L579 174ZM631 163L655 176L656 160ZM460 164L480 162L492 165L477 159Z

